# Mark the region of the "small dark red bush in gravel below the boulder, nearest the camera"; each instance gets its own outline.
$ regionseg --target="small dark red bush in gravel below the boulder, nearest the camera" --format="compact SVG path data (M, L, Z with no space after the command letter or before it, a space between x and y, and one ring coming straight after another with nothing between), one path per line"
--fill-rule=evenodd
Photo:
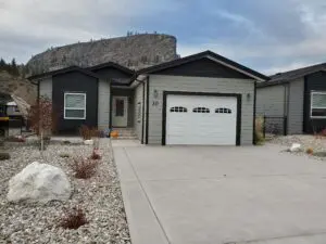
M60 227L64 229L76 230L79 227L88 223L86 216L80 207L73 207L72 209L65 209L64 216L60 220Z

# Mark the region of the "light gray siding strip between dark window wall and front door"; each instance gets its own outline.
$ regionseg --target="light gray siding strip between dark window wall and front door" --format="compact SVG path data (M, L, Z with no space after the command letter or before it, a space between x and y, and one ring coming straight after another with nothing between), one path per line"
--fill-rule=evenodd
M99 81L98 128L108 129L110 125L110 82Z

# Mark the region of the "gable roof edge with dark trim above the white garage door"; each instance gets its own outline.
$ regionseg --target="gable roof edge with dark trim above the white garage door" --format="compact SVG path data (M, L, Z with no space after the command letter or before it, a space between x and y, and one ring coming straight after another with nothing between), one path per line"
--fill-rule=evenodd
M141 74L151 74L151 73L155 73L155 72L159 72L159 70L163 70L163 69L166 69L166 68L171 68L171 67L175 67L175 66L178 66L178 65L181 65L181 64L186 64L186 63L189 63L189 62L192 62L192 61L197 61L197 60L200 60L200 59L203 59L203 57L209 57L209 59L212 59L213 61L217 62L217 63L221 63L225 66L228 66L230 68L234 68L244 75L248 75L252 78L255 78L258 80L261 80L261 81L265 81L265 80L268 80L269 77L261 74L261 73L258 73L249 67L246 67L241 64L238 64L231 60L228 60L226 59L225 56L222 56L222 55L218 55L217 53L214 53L210 50L208 51L204 51L204 52L200 52L200 53L197 53L197 54L193 54L193 55L189 55L189 56L185 56L185 57L181 57L181 59L177 59L177 60L174 60L174 61L170 61L170 62L165 62L165 63L162 63L162 64L158 64L158 65L154 65L154 66L151 66L151 67L147 67L147 68L142 68L142 69L139 69L137 72L138 75L141 75Z

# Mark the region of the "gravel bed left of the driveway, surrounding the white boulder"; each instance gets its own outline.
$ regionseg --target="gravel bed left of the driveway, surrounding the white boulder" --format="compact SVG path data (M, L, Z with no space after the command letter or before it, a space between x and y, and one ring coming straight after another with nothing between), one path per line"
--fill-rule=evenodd
M71 144L50 143L45 159L30 142L8 143L5 147L11 159L0 160L0 243L130 243L109 139L100 140L102 159L97 175L88 180L75 179L68 166L73 156L86 157L92 152L92 146L84 145L80 139ZM72 157L62 158L60 154ZM59 166L67 174L74 189L71 200L46 205L7 201L10 178L35 160ZM75 206L83 208L89 222L77 230L58 227L64 208Z

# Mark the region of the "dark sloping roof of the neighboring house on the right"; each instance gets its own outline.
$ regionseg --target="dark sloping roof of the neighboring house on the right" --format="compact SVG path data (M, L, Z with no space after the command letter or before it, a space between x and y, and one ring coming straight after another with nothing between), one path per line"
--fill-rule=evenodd
M284 72L284 73L277 73L273 76L271 76L271 80L266 82L261 82L258 86L259 87L268 87L268 86L275 86L275 85L280 85L280 84L287 84L290 82L291 80L296 80L298 78L302 78L306 75L316 73L316 72L323 72L326 70L326 63L322 64L315 64L312 66L303 67L303 68L298 68L289 72Z

